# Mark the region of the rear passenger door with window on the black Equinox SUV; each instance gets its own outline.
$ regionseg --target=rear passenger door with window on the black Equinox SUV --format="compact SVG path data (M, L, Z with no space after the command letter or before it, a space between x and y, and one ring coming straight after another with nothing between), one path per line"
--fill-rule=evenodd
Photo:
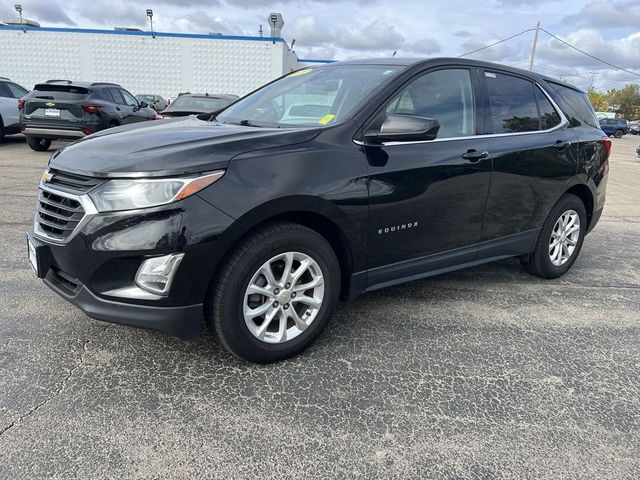
M529 251L548 212L576 174L576 136L550 97L528 78L500 71L481 74L493 154L483 240L510 237ZM512 254L520 252L513 251Z

